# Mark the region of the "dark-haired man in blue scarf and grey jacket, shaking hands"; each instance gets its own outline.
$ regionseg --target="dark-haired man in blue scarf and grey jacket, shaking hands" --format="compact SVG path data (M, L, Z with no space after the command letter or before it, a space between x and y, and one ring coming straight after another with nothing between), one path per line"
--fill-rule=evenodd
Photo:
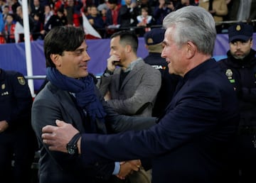
M112 174L124 178L138 171L138 160L102 162L84 166L76 147L80 135L67 146L68 154L48 150L43 144L43 126L56 120L68 121L82 133L107 133L149 128L156 118L120 116L108 106L87 71L85 32L82 28L58 26L44 39L48 83L36 96L32 107L32 126L40 144L39 182L80 183L108 182ZM110 147L111 148L111 147ZM111 182L111 181L110 181Z

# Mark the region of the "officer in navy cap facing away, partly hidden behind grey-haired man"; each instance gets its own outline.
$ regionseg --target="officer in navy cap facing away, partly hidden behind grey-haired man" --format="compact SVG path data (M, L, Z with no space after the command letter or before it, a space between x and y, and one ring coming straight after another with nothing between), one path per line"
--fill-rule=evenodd
M156 96L156 103L152 111L152 116L160 117L164 114L164 109L169 104L178 82L177 75L169 74L167 62L161 57L163 50L164 28L153 28L144 34L145 47L149 55L144 57L144 62L161 72L161 88Z

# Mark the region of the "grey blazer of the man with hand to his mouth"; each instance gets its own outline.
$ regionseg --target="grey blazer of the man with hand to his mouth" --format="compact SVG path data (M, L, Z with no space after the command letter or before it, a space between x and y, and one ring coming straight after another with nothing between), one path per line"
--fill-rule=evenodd
M161 87L161 73L140 58L119 86L121 68L109 77L102 77L100 92L110 91L107 101L117 113L128 116L151 116L156 95Z

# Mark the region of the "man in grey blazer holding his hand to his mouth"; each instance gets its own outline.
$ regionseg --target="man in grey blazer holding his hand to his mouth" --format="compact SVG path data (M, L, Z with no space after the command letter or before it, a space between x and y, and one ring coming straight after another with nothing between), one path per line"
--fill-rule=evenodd
M99 88L117 113L151 116L161 87L161 74L137 57L137 49L135 33L123 30L111 36L110 57Z

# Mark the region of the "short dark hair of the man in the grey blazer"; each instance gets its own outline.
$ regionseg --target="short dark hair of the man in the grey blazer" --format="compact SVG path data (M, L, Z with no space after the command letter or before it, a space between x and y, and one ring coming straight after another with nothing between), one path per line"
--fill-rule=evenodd
M137 35L134 32L129 30L121 30L112 34L110 38L112 39L117 36L120 37L119 43L121 45L131 45L132 50L137 53L139 41Z

